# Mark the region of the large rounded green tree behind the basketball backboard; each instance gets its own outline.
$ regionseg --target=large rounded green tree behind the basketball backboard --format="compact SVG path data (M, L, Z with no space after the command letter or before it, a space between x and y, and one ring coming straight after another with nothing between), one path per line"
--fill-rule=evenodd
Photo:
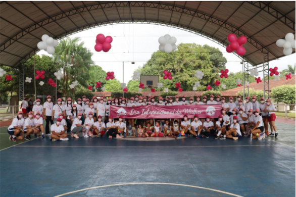
M172 53L157 51L153 53L151 59L138 70L141 75L159 75L160 83L163 88L168 87L176 91L176 82L181 82L183 91L192 91L192 84L201 81L201 87L198 90L206 90L206 86L213 86L219 77L219 72L225 69L226 59L218 50L208 45L201 46L195 43L181 43L178 50ZM163 71L167 70L172 73L172 80L163 79ZM196 70L204 72L202 80L194 77ZM163 90L158 88L157 90Z

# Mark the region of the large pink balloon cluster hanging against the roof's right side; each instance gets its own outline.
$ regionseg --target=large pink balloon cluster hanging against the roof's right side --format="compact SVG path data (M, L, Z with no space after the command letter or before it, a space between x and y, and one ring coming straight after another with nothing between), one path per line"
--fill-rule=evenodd
M240 36L238 39L236 35L233 33L230 33L227 36L228 41L230 42L229 45L226 47L226 51L228 53L232 53L236 51L237 55L243 56L245 54L245 49L242 46L246 42L246 37L245 36Z

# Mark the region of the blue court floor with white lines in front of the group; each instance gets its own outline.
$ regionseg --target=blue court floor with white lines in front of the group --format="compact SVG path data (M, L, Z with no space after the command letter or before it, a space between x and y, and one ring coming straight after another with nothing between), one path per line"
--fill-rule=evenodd
M295 126L277 126L279 141L36 138L0 151L0 195L295 196Z

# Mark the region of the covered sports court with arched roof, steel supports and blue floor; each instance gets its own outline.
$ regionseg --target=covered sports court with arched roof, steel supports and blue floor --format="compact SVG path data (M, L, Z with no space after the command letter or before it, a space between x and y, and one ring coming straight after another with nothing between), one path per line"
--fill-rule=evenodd
M264 73L283 56L277 39L295 35L295 2L1 2L0 64L20 73L43 34L61 39L89 28L150 23L190 31L219 43L246 36L241 57ZM295 50L293 49L293 53ZM244 96L248 95L248 86ZM0 142L8 140L0 122ZM295 121L276 122L280 138L261 141L126 140L45 137L0 151L1 196L295 196Z

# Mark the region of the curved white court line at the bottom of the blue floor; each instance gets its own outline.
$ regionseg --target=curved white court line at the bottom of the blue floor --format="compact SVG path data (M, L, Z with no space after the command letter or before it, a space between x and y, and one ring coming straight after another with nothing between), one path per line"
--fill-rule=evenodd
M97 188L119 186L119 185L140 185L140 184L146 184L146 185L177 185L177 186L193 187L193 188L198 188L198 189L206 189L206 190L210 190L210 191L216 191L216 192L220 192L220 193L224 193L224 194L228 194L228 195L232 195L232 196L236 196L236 197L242 197L241 195L237 195L237 194L234 194L234 193L229 193L227 191L221 191L221 190L218 190L218 189L211 189L211 188L207 188L207 187L184 185L184 184L177 184L177 183L120 183L120 184L103 185L103 186L96 186L96 187L89 187L89 188L85 188L85 189L79 189L79 190L76 190L76 191L70 191L70 192L67 192L67 193L56 195L55 197L68 195L68 194L71 194L71 193L76 193L76 192L85 191L85 190L89 190L89 189L97 189Z

